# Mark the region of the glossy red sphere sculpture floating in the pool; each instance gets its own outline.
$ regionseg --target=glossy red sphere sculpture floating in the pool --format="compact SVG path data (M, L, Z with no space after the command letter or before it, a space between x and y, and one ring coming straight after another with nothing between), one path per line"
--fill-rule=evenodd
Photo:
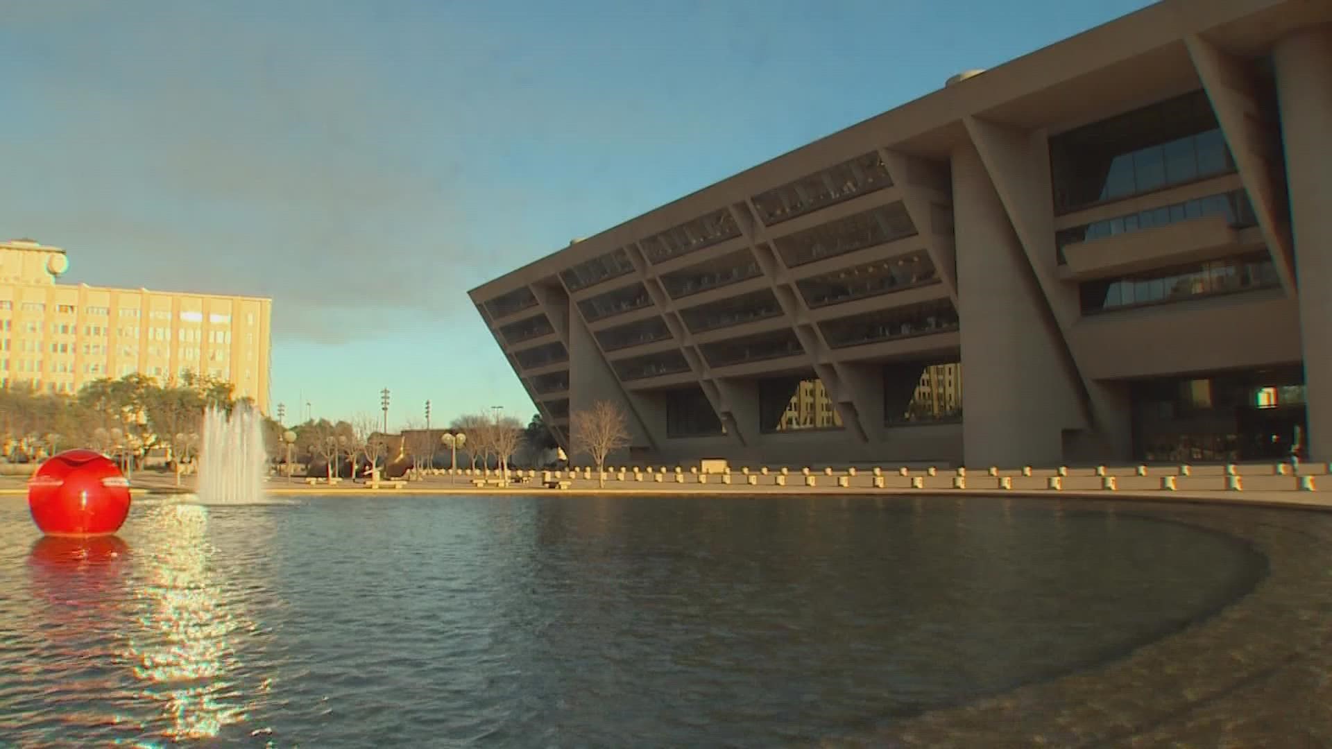
M101 453L65 450L28 481L28 509L49 536L115 533L129 514L129 481Z

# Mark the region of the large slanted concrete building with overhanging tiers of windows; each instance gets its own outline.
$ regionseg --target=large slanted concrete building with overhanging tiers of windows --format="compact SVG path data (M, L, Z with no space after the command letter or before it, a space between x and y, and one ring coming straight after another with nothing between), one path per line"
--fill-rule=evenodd
M1329 133L1332 3L1166 0L470 296L635 460L1329 460Z

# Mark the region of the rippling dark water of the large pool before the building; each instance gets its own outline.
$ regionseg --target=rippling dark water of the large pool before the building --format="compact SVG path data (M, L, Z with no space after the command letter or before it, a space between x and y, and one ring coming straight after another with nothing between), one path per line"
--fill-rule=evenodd
M139 502L89 546L39 540L7 497L0 745L874 736L1227 610L1271 565L1216 525L1023 500L390 494Z

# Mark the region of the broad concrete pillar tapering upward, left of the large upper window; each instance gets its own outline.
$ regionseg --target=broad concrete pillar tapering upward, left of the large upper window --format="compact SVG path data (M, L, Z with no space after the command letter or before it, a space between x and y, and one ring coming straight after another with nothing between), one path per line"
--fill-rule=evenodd
M963 454L971 465L1058 465L1080 421L1056 324L1043 309L1018 235L972 145L952 153L962 321Z

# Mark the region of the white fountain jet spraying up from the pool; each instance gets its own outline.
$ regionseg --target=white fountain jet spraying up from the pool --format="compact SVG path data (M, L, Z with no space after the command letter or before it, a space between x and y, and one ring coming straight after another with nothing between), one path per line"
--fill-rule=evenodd
M204 445L198 454L198 501L204 504L257 504L264 501L264 417L238 405L228 416L209 408L204 413Z

